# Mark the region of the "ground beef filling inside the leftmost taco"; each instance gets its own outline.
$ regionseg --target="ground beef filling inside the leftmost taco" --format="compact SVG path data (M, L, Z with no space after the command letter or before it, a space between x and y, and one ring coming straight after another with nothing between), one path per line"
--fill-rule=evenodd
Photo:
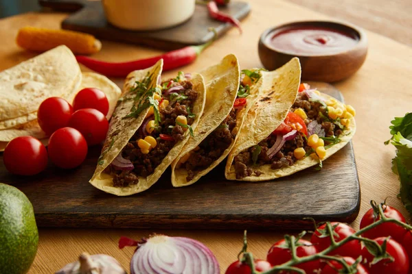
M192 82L190 81L181 82L179 84L185 88L185 90L179 91L179 94L187 96L187 99L173 101L171 100L170 95L162 95L163 99L167 99L170 104L166 108L159 107L161 121L159 127L150 134L156 138L157 146L154 149L151 149L148 154L141 153L141 149L137 146L137 141L145 137L144 130L146 132L146 129L142 128L144 126L143 123L122 150L122 157L130 160L133 163L133 166L135 166L135 169L132 171L122 171L115 169L112 165L109 165L106 168L105 172L113 176L114 186L124 187L137 184L139 182L138 176L147 177L152 174L156 167L161 164L165 156L168 155L170 149L176 145L176 142L183 140L183 134L187 129L181 127L181 125L176 125L176 117L184 115L186 116L187 124L192 125L194 118L188 117L189 113L187 112L187 107L190 107L190 110L193 110L194 102L198 97L198 92L192 90ZM160 134L171 136L173 140L163 140L159 137Z

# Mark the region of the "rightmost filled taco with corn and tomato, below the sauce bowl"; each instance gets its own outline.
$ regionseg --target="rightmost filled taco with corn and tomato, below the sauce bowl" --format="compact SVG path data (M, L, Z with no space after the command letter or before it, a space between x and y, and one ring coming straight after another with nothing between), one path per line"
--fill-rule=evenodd
M299 89L299 78L297 58L262 73L259 98L229 153L227 179L264 181L322 166L354 136L354 109L304 84Z

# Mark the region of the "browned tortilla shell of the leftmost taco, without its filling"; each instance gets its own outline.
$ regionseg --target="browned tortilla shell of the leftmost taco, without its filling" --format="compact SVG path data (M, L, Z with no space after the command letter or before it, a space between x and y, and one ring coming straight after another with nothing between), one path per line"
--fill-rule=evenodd
M141 82L141 80L144 79L148 73L153 73L153 75L155 75L155 77L152 77L151 86L156 86L157 78L161 75L162 66L163 60L160 60L157 64L155 64L155 66L152 66L149 69L130 73L124 84L124 94L127 95L126 92L134 86L135 82ZM196 73L192 74L192 83L193 89L198 91L198 98L196 99L192 109L192 113L196 114L196 118L192 123L192 129L196 130L201 115L203 114L203 109L205 108L206 90L202 75ZM104 142L103 152L100 156L98 166L93 174L93 177L89 181L96 188L117 196L133 195L150 188L150 186L159 180L168 166L172 164L172 161L177 157L177 155L179 155L181 149L190 138L190 132L187 130L183 140L174 145L174 147L168 152L168 155L165 156L161 164L156 167L155 171L148 177L139 176L139 182L137 184L127 187L113 186L113 177L103 171L109 164L111 164L111 162L113 162L119 153L122 153L122 149L127 145L130 138L132 138L135 132L139 129L149 111L149 109L146 109L144 112L141 112L137 118L129 117L128 119L124 119L124 117L130 112L130 108L132 108L133 104L133 100L124 100L117 105L115 115L113 116L108 130L108 135Z

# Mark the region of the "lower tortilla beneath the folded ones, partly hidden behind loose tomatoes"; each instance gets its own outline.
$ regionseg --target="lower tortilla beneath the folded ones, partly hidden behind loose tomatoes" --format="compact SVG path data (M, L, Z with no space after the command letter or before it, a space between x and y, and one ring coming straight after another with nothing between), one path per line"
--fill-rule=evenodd
M103 75L98 73L82 73L82 84L80 84L80 88L78 88L76 92L73 92L67 101L73 102L77 92L83 88L98 88L104 92L108 99L109 105L106 118L110 119L111 114L115 110L117 99L119 99L122 94L122 90L120 90L115 83L111 82L110 79ZM10 142L12 139L19 136L33 136L37 139L47 138L45 132L43 132L41 127L38 125L37 114L36 119L33 121L17 125L16 127L10 129L0 130L0 142Z

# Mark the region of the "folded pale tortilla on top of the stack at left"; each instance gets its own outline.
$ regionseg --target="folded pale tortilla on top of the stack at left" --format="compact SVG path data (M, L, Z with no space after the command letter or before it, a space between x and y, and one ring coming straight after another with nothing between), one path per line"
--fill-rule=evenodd
M0 129L36 119L36 110L49 97L78 90L80 66L70 49L59 46L0 73Z

